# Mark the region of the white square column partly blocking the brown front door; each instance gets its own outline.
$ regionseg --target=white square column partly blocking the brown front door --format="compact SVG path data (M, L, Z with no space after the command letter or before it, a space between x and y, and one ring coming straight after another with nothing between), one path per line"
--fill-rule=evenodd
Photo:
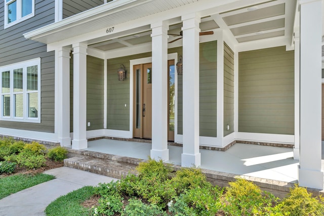
M165 21L152 28L152 149L151 158L169 160L168 29Z

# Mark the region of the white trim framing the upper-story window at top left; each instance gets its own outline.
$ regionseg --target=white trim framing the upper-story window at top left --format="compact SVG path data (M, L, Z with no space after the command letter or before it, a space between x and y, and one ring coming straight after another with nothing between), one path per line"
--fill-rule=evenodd
M11 0L9 2L6 2L7 0L4 0L4 11L5 11L5 16L4 16L4 23L5 23L5 29L9 28L10 26L16 25L24 20L27 20L33 16L35 16L35 0L31 0L31 14L28 14L27 16L21 17L21 5L22 5L22 0ZM12 2L17 2L17 19L11 23L8 23L8 5Z

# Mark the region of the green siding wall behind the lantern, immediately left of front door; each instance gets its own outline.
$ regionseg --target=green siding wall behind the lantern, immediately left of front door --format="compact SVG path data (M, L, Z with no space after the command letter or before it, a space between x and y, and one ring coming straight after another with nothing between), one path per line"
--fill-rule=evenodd
M107 60L107 129L130 130L130 60L149 56L151 53ZM124 81L118 81L117 77L121 64L127 71Z

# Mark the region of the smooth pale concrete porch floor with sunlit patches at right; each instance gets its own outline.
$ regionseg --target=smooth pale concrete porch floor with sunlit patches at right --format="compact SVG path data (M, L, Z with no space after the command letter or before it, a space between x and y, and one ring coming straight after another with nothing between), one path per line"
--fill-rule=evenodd
M168 146L169 163L181 164L182 147ZM147 159L151 144L100 139L88 142L88 151ZM262 179L297 183L298 160L292 148L236 143L227 151L200 149L201 168Z

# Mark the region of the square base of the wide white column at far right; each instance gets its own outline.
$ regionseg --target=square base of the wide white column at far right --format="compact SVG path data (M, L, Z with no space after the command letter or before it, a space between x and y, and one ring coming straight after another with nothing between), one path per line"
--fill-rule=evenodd
M323 190L323 172L318 170L302 169L298 165L298 183L302 187Z

